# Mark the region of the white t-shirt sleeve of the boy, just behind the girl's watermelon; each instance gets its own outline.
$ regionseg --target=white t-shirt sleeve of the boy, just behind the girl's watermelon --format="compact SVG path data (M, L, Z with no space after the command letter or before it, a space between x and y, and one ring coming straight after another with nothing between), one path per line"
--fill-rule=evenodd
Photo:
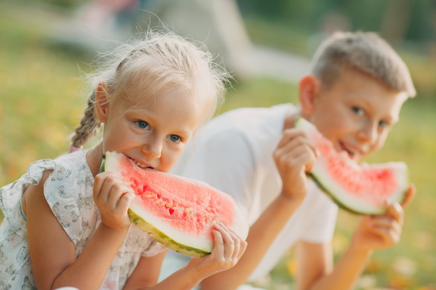
M189 148L176 174L198 179L231 195L248 216L254 203L250 184L254 182L254 154L237 131L198 138Z

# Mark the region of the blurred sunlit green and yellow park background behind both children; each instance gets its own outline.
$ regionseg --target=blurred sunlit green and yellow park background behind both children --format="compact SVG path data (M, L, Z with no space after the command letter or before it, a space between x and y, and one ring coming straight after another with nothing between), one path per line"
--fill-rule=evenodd
M375 31L410 67L418 92L368 162L405 161L416 184L400 243L375 252L356 289L436 289L436 2L432 0L15 0L0 2L0 184L68 150L83 114L82 72L148 26L205 41L233 72L226 111L295 102L314 49L336 30ZM115 42L114 42L115 40ZM1 216L0 216L1 218ZM357 217L340 212L336 259ZM293 250L267 289L293 289Z

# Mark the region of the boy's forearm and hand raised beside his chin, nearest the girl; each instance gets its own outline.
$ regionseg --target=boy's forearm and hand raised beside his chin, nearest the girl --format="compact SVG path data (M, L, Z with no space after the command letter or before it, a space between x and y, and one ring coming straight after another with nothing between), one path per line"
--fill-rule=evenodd
M238 264L203 280L201 289L231 290L244 284L304 200L308 183L305 172L316 158L313 146L302 131L288 129L273 155L283 183L281 194L250 227L247 250Z

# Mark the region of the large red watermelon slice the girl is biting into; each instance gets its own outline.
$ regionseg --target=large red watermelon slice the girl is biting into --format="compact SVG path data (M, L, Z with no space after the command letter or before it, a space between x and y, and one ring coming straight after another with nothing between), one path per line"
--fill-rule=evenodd
M106 153L103 168L136 193L128 210L132 223L171 250L194 257L208 255L216 223L247 238L247 218L231 195L194 179L140 168L117 152Z

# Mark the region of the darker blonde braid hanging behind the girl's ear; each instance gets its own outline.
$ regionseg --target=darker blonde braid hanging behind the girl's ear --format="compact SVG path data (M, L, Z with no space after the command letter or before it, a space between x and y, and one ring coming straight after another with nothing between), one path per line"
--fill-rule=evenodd
M85 115L81 118L79 126L75 129L75 135L71 138L72 147L77 149L81 148L88 138L95 134L95 129L98 127L98 120L95 118L94 103L95 92L92 92L88 99L88 106L85 109Z

